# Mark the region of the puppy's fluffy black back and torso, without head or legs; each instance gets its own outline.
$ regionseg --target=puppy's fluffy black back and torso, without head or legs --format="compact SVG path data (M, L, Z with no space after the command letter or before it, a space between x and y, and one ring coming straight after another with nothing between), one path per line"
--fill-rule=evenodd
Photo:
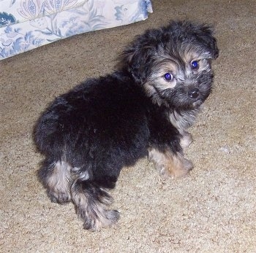
M72 167L91 168L94 175L101 170L118 174L145 156L145 97L127 78L117 72L91 79L56 98L37 122L40 151L56 161L65 157Z

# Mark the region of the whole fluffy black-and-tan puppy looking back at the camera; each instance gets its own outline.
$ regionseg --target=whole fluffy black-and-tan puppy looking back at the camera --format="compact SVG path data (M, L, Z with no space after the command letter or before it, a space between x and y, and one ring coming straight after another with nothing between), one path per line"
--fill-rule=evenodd
M136 37L113 74L56 98L34 129L50 200L72 201L83 227L100 230L119 218L108 190L124 166L148 155L163 176L187 174L187 128L211 93L218 52L210 26L172 21Z

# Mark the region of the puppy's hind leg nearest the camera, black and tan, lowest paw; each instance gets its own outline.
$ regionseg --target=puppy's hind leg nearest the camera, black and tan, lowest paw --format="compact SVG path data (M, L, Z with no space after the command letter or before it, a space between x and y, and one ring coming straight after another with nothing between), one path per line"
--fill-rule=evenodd
M83 179L78 178L74 181L71 194L78 217L83 219L85 229L97 231L118 221L118 211L107 209L113 198L99 184L86 180L83 176Z

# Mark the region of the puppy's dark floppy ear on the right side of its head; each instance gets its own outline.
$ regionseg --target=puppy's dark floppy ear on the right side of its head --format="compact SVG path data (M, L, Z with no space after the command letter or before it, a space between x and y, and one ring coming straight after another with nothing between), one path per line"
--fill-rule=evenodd
M195 29L194 36L197 41L203 44L211 53L211 57L217 59L219 56L219 49L217 47L217 40L214 38L214 29L211 26L202 25Z

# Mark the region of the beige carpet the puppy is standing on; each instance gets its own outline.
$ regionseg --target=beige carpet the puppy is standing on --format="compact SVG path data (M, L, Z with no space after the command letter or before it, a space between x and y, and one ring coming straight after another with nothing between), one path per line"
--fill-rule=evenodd
M0 252L256 252L256 5L154 1L148 20L56 42L0 62ZM116 227L91 233L72 204L50 203L31 131L55 96L112 71L135 34L170 19L216 26L215 89L197 123L184 179L162 182L147 160L122 171Z

